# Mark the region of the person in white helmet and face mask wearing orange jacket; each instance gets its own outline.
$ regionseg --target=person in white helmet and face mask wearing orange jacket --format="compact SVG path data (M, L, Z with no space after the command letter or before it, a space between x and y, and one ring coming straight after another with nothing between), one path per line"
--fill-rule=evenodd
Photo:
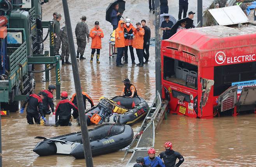
M124 24L124 64L128 63L128 47L130 49L130 54L131 54L131 59L132 59L132 64L135 64L135 57L133 53L133 47L132 47L132 42L133 42L133 30L136 28L131 24L130 19L125 20Z

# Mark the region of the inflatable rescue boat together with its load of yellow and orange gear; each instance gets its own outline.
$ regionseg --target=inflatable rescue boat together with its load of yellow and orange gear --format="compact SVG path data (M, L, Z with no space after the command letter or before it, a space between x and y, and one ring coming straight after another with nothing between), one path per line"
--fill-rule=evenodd
M116 96L111 100L101 97L98 105L86 112L86 119L88 125L110 122L111 119L118 124L132 125L142 120L147 111L147 102L139 96Z

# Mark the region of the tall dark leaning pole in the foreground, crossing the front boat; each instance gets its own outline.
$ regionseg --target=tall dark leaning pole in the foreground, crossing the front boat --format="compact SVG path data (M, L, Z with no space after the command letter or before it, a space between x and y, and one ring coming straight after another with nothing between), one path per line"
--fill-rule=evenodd
M75 92L76 92L76 98L77 98L77 107L79 112L79 120L81 125L81 132L82 132L82 142L84 145L84 157L86 161L86 167L93 167L93 158L91 155L91 145L88 135L88 129L87 129L87 122L85 118L85 112L84 112L84 102L82 98L82 89L81 89L81 82L79 78L79 71L77 67L77 61L76 61L76 55L75 55L75 44L73 39L73 32L70 22L70 16L69 16L69 10L68 10L68 2L67 0L62 0L63 4L63 10L65 15L65 24L67 28L68 33L68 43L69 43L69 50L70 50L70 57L71 57L71 63L72 63L72 71L73 71L73 77L75 82Z

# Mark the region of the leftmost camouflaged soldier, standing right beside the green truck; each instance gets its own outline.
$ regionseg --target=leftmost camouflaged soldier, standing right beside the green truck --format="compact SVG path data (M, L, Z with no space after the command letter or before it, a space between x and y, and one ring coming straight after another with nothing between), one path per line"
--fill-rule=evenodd
M61 20L61 14L56 14L56 20L53 21L54 26L54 55L60 55L60 20Z

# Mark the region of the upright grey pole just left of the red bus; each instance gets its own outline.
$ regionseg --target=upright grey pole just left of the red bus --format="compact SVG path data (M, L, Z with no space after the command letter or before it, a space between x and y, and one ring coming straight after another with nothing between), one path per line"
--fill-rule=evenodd
M160 0L155 0L155 61L156 61L156 92L161 95L161 35L160 35Z

